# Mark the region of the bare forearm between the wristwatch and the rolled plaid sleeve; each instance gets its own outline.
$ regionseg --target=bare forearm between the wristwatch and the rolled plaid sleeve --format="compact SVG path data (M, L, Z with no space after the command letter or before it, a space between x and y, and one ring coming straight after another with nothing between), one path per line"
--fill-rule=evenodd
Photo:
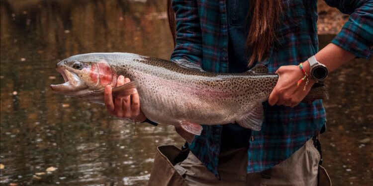
M320 63L324 64L329 72L334 71L336 68L342 64L349 62L354 59L356 56L341 47L330 43L325 48L320 50L315 54L315 58ZM309 73L309 63L308 61L303 62L303 67L307 73Z

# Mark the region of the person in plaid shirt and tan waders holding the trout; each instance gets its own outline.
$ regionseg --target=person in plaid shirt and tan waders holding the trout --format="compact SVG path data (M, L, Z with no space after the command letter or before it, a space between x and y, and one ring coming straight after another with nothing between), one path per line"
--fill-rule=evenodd
M158 148L149 185L331 185L315 147L325 130L322 100L301 100L342 64L372 56L373 0L325 1L350 18L318 51L316 0L168 0L173 61L227 73L264 65L279 79L258 106L264 112L254 109L250 115L263 115L259 131L236 123L202 124L200 135L176 128L190 152L180 159L170 155L172 149ZM116 86L128 82L119 76ZM108 85L105 104L114 116L147 120L136 91L113 99Z

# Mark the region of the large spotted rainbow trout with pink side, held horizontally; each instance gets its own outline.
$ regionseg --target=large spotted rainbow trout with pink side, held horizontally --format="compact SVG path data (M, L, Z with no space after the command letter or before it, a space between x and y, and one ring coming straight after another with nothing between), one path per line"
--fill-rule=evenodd
M137 89L145 116L159 124L181 126L199 135L200 124L236 122L252 130L263 124L263 105L278 75L259 66L245 73L211 73L195 64L183 64L128 53L92 53L67 58L56 65L65 83L51 85L55 92L103 103L104 86L119 75L131 82L112 89L129 96ZM303 102L327 99L324 86L312 88Z

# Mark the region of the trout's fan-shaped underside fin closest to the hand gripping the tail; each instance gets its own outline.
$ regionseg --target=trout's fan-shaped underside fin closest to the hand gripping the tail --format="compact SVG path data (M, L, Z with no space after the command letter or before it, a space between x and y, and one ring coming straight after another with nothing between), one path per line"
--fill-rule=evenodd
M239 118L236 123L242 127L259 131L262 129L263 120L264 110L262 103L260 103L251 112Z

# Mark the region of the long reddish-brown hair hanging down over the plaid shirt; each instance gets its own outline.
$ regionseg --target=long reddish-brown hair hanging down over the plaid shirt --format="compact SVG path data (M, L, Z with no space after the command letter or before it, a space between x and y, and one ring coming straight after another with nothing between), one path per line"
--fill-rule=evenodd
M281 0L250 0L251 24L245 49L250 51L248 65L268 58L268 53L276 40L276 30L282 14ZM172 0L167 0L169 26L176 45L176 20Z

